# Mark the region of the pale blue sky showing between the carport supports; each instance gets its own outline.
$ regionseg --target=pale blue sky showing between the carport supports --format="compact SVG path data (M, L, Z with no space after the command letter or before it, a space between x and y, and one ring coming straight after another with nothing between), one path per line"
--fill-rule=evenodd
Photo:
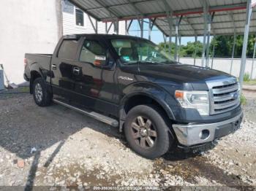
M146 20L148 21L148 20ZM148 39L148 23L144 23L144 33L143 33L143 38ZM134 20L132 22L131 27L129 28L129 35L132 36L140 36L140 27L138 25L138 21ZM162 36L162 32L158 30L156 26L153 27L151 31L151 41L159 44L159 42L164 42L164 38ZM168 39L167 39L168 41ZM203 42L203 36L198 36L197 41ZM175 42L175 38L172 38L172 42ZM187 37L187 36L182 36L181 38L181 44L186 45L187 42L195 42L195 37Z

